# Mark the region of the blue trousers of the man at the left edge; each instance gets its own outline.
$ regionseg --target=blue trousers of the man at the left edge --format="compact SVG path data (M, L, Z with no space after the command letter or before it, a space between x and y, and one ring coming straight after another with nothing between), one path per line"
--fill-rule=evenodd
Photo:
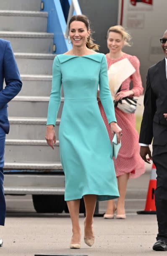
M3 166L5 153L5 131L0 127L0 225L5 224L6 204L3 191Z

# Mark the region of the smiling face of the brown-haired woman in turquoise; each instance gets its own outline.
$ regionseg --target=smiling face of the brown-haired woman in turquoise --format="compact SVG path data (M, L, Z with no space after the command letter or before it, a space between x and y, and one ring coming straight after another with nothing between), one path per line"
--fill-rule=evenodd
M69 36L70 40L75 47L81 47L86 44L87 37L90 35L90 30L82 21L73 21L70 24Z

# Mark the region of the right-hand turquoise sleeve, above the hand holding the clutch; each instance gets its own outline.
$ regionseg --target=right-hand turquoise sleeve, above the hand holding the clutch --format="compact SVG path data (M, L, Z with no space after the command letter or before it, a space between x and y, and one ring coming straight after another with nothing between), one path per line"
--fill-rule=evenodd
M104 56L101 62L101 69L99 74L99 88L100 100L107 116L108 123L117 122L115 117L114 103L109 89L108 75L107 75L107 60Z

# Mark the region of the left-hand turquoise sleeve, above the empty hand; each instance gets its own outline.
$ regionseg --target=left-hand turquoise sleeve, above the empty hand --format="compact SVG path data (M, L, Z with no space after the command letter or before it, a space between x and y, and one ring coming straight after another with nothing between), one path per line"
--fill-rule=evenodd
M60 62L55 57L53 61L53 68L52 68L52 91L50 93L50 101L48 106L48 113L47 113L47 125L54 125L57 119L57 112L60 107L61 101L61 84L62 84L62 74L60 70Z

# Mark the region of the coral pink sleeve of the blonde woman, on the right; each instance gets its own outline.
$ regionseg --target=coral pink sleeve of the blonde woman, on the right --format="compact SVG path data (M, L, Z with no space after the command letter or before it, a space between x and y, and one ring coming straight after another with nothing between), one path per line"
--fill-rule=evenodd
M133 67L136 69L136 72L133 73L131 76L132 81L133 81L133 92L134 96L139 97L143 93L143 86L141 82L141 75L140 75L140 61L136 56L131 56L130 62L133 65Z

